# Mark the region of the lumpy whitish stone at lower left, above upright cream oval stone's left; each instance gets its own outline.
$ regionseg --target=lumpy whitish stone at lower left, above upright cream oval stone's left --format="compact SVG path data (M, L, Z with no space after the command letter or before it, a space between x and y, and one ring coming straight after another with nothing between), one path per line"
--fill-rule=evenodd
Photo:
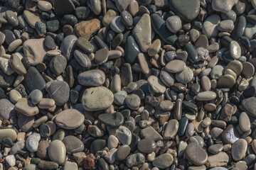
M33 132L32 135L30 135L26 140L26 149L28 149L29 152L36 152L40 140L40 134Z

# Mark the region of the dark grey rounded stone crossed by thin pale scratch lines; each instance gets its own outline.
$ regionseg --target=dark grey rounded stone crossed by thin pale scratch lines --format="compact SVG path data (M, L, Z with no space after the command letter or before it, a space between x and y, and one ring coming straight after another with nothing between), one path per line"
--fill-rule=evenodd
M46 91L57 106L63 106L69 99L70 86L65 81L53 80L46 84Z

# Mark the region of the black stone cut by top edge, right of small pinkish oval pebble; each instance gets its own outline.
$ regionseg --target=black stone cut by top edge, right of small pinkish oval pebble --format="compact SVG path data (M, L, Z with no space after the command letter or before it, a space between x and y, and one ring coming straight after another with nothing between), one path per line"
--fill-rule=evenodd
M54 0L53 7L57 15L60 17L65 16L66 14L73 14L75 11L75 6L70 0Z

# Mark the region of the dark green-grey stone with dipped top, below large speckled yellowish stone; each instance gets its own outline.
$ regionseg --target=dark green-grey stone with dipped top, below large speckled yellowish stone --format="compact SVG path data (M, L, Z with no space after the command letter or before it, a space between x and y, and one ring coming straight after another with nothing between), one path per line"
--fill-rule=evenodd
M98 118L102 123L110 126L111 128L118 128L122 123L124 123L124 116L119 112L113 114L104 113L99 115Z

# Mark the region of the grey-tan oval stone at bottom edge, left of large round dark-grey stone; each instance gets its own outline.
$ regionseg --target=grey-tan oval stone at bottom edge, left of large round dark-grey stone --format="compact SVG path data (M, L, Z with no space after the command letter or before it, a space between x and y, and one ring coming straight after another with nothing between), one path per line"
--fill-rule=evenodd
M156 157L152 164L159 169L166 169L174 162L174 157L171 154L161 154Z

